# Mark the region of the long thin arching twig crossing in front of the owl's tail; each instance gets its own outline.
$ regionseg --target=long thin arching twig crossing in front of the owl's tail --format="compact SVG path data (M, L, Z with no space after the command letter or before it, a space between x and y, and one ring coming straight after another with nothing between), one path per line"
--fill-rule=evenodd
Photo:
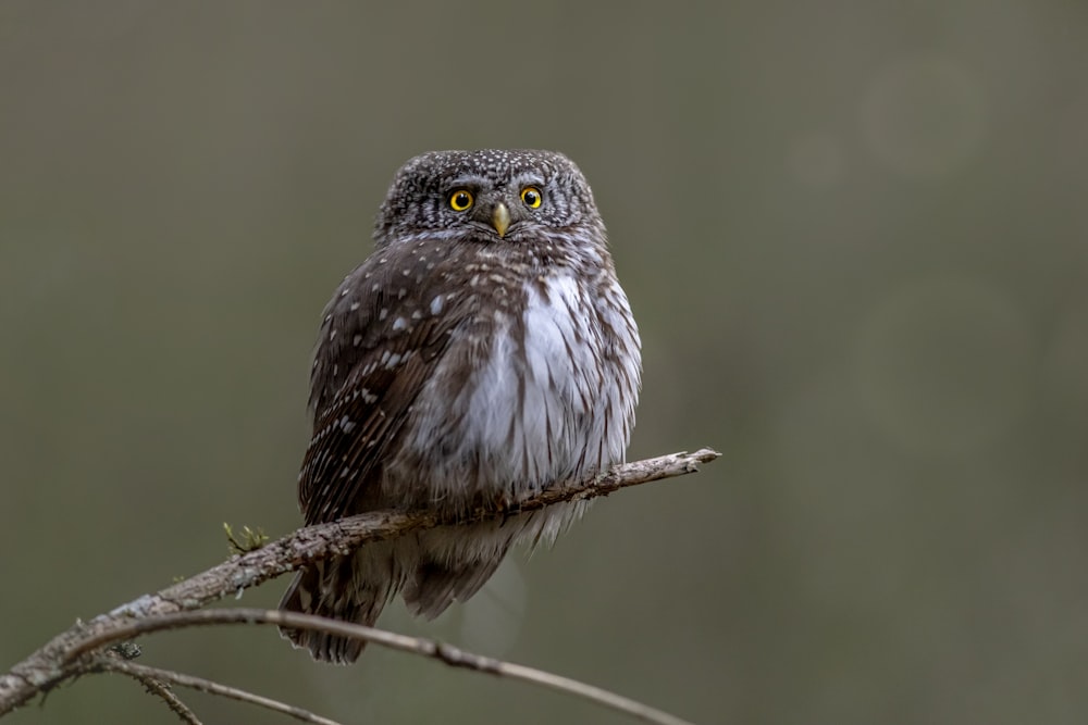
M643 722L653 723L654 725L691 725L688 721L681 720L676 715L670 715L667 712L651 708L621 695L616 695L599 687L534 667L466 652L457 647L436 642L431 639L398 635L385 632L384 629L366 627L360 624L349 624L339 620L313 616L312 614L298 614L297 612L281 612L276 610L243 608L211 609L196 612L160 614L141 620L133 620L121 623L109 633L102 633L97 637L87 639L71 652L70 660L77 659L82 654L99 647L104 647L123 639L132 639L138 635L211 624L274 624L296 629L316 629L338 637L363 639L368 642L381 645L382 647L400 650L401 652L411 652L432 658L455 667L466 667L499 677L519 679L568 695L574 695L597 704L611 708L613 710L627 713Z

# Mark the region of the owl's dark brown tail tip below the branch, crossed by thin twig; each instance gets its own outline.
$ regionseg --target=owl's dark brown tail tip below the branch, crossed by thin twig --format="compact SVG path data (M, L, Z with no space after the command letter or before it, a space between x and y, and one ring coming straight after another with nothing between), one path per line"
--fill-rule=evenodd
M390 599L393 580L388 568L375 572L368 559L358 553L334 557L301 570L283 596L280 609L373 626ZM314 660L336 664L355 662L366 646L361 639L313 629L281 627L280 634L295 647L309 649Z

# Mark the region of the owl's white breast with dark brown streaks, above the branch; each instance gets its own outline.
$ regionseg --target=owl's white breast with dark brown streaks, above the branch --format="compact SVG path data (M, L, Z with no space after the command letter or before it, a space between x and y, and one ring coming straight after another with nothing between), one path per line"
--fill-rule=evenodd
M618 284L602 295L579 280L553 270L522 286L518 304L482 304L453 333L403 439L398 458L413 465L386 467L394 477L425 471L428 480L390 483L457 507L516 499L623 460L638 332Z

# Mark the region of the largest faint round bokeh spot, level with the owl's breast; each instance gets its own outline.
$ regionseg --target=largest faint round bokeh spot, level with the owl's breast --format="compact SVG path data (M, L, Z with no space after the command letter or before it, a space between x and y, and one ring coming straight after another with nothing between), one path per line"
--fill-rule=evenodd
M992 443L1029 395L1030 327L1007 296L972 279L927 278L863 320L856 379L867 414L899 445L954 453Z

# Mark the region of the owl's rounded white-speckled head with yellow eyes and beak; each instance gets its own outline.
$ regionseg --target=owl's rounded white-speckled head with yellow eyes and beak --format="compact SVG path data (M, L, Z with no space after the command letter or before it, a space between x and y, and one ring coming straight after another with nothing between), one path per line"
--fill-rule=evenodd
M463 241L603 239L593 193L578 166L554 151L433 151L400 167L374 228L379 247Z

